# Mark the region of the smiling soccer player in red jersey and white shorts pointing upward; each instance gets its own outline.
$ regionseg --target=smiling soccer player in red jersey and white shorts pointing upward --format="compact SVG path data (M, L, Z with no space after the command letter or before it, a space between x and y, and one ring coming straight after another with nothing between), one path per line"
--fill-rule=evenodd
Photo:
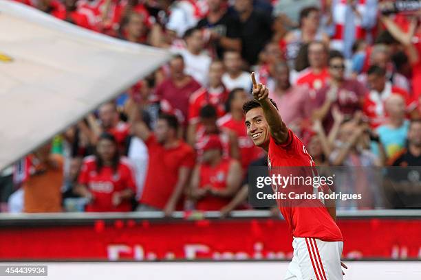
M256 83L255 73L252 73L251 78L254 100L243 106L245 124L248 136L255 145L268 152L270 173L274 167L310 169L314 161L300 139L282 121L276 104L268 98L268 88ZM325 207L321 200L308 203L311 207L288 206L288 203L281 200L277 200L277 203L294 237L294 256L284 279L343 279L341 265L347 267L341 263L343 237L335 222L334 207Z

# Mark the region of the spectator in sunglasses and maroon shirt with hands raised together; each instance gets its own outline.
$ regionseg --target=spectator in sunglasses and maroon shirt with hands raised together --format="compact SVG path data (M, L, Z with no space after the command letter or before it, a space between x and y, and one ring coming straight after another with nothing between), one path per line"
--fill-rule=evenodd
M344 117L352 117L362 104L367 90L357 80L345 78L345 58L340 51L332 51L329 57L329 82L316 92L313 117L323 121L323 127L329 131L334 119L332 108L337 106Z

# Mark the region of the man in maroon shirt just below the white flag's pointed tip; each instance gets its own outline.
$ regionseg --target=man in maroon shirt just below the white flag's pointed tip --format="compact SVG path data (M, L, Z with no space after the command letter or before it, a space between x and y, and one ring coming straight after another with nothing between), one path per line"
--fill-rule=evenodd
M200 84L190 75L184 73L184 59L180 54L170 61L171 77L156 88L158 97L168 100L171 106L180 109L184 118L188 115L188 99L200 89Z

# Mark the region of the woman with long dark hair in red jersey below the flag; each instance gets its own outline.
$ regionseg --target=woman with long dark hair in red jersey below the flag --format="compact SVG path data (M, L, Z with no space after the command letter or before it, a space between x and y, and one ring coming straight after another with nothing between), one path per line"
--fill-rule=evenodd
M116 138L104 132L96 145L96 155L87 156L75 192L89 200L88 212L131 211L136 181L131 164L120 157Z

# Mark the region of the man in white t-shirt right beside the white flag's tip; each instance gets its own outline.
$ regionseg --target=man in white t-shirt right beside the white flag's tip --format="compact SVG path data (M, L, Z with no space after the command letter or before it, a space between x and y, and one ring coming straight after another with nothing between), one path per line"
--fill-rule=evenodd
M208 72L212 59L204 54L204 40L201 30L192 27L184 33L185 49L174 49L177 54L181 54L184 58L184 71L191 75L199 84L207 86Z

